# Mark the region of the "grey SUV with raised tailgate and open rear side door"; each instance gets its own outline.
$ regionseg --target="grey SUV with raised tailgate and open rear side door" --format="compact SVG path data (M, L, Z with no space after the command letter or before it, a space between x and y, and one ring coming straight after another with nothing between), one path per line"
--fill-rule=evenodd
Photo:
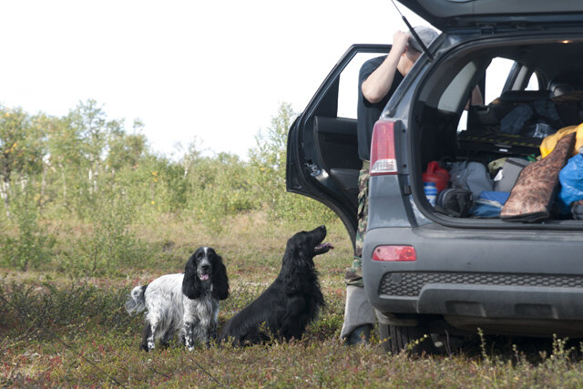
M434 160L537 157L541 138L500 132L520 104L542 100L561 125L583 122L583 2L401 3L442 34L374 127L363 278L387 348L477 328L583 337L583 220L448 216L429 203L422 179ZM288 138L287 189L334 210L353 241L361 168L349 107L354 69L389 49L350 47ZM466 111L476 85L486 104Z

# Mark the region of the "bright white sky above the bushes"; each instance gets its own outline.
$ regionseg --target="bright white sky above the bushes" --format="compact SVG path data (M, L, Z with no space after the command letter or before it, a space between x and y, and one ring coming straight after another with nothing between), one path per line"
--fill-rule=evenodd
M405 29L390 0L18 0L0 15L6 107L62 116L94 98L128 131L140 118L154 151L196 137L243 158L281 102L302 111L348 46Z

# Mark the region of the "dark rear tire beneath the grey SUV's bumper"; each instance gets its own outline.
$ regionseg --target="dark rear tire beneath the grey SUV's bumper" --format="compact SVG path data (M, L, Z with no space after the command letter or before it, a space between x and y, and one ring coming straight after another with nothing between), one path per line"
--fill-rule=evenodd
M389 325L379 322L379 338L387 353L435 353L431 334L423 325Z

